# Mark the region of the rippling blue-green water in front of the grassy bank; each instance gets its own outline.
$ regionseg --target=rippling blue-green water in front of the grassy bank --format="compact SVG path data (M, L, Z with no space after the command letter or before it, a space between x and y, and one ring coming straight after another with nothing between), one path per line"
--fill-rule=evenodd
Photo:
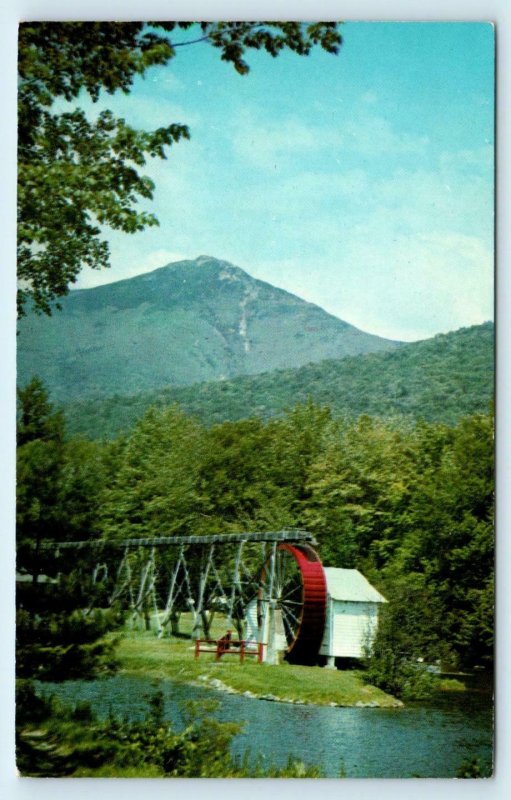
M176 728L182 725L184 701L219 700L218 719L244 722L233 752L248 750L268 764L284 765L293 756L320 766L330 778L341 770L349 778L450 778L463 761L477 757L485 773L491 771L493 715L487 690L449 693L434 704L374 709L253 700L125 675L39 684L41 693L63 701L90 702L99 716L113 712L132 720L145 716L148 696L156 689L163 692L166 716Z

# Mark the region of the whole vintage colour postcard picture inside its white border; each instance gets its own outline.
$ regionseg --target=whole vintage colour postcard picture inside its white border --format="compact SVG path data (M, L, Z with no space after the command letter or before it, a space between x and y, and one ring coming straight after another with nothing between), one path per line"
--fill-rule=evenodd
M493 25L18 72L19 774L491 777Z

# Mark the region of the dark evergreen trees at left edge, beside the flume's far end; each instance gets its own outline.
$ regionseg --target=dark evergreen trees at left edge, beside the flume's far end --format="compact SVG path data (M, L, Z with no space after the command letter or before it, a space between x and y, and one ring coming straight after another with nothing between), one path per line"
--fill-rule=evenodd
M113 615L84 617L86 586L75 564L58 576L43 545L96 533L99 446L66 441L62 413L41 381L19 391L16 674L19 679L89 676L112 664L103 640ZM21 710L23 711L23 710Z

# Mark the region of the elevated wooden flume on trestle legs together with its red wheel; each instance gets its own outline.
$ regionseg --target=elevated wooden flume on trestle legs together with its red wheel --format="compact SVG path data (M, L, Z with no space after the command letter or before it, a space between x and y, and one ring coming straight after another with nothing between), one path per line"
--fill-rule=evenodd
M87 587L85 613L120 606L163 637L179 635L180 616L190 612L192 638L198 640L209 638L215 612L222 612L226 626L243 639L247 607L255 601L257 641L269 639L265 660L278 660L280 625L286 658L314 663L324 631L326 581L313 544L308 531L285 529L43 542L38 552L56 574L79 572Z

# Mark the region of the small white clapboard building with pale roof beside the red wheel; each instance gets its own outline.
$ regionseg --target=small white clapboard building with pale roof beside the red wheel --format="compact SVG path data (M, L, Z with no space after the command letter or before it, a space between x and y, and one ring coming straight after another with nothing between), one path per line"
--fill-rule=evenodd
M320 655L327 666L336 658L363 658L378 626L378 610L387 601L357 569L324 567L327 584L325 633Z

